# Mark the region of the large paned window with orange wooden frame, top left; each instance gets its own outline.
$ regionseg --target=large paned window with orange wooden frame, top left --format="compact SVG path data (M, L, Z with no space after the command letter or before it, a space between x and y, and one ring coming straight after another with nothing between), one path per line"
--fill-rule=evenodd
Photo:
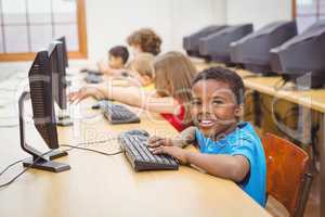
M0 61L32 60L61 36L69 58L87 58L84 0L0 0Z

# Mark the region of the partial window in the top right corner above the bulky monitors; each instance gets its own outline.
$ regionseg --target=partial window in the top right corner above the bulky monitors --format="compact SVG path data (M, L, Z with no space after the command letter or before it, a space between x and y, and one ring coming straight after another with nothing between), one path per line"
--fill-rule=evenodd
M325 0L292 0L292 9L299 33L325 18Z

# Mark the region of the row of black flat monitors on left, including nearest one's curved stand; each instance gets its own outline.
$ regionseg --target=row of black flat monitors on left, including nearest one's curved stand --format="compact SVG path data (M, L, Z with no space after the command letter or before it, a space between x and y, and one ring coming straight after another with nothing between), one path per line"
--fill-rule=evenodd
M32 167L50 171L63 171L70 167L66 164L52 162L52 158L65 156L66 152L60 152L57 140L57 117L54 105L66 110L66 67L68 66L65 38L62 37L50 43L48 50L36 53L35 60L28 72L29 92L23 92L20 98L20 130L21 146L32 157L23 162L26 167ZM24 101L30 97L32 118L36 129L51 149L49 153L37 151L34 145L26 142Z

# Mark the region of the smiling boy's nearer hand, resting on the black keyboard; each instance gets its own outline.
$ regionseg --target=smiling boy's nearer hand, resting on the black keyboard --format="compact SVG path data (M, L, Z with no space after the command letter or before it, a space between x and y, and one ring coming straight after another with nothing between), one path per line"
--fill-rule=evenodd
M168 154L170 156L173 156L180 162L180 164L188 164L187 156L190 152L187 150L183 150L182 148L160 145L151 149L151 151L153 152L153 154Z

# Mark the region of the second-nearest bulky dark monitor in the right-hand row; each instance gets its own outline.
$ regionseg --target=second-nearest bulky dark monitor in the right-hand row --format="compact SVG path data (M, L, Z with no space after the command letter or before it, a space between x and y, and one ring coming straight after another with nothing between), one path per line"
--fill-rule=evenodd
M231 43L231 61L244 64L246 69L263 75L271 71L272 48L278 47L297 35L295 21L274 22Z

